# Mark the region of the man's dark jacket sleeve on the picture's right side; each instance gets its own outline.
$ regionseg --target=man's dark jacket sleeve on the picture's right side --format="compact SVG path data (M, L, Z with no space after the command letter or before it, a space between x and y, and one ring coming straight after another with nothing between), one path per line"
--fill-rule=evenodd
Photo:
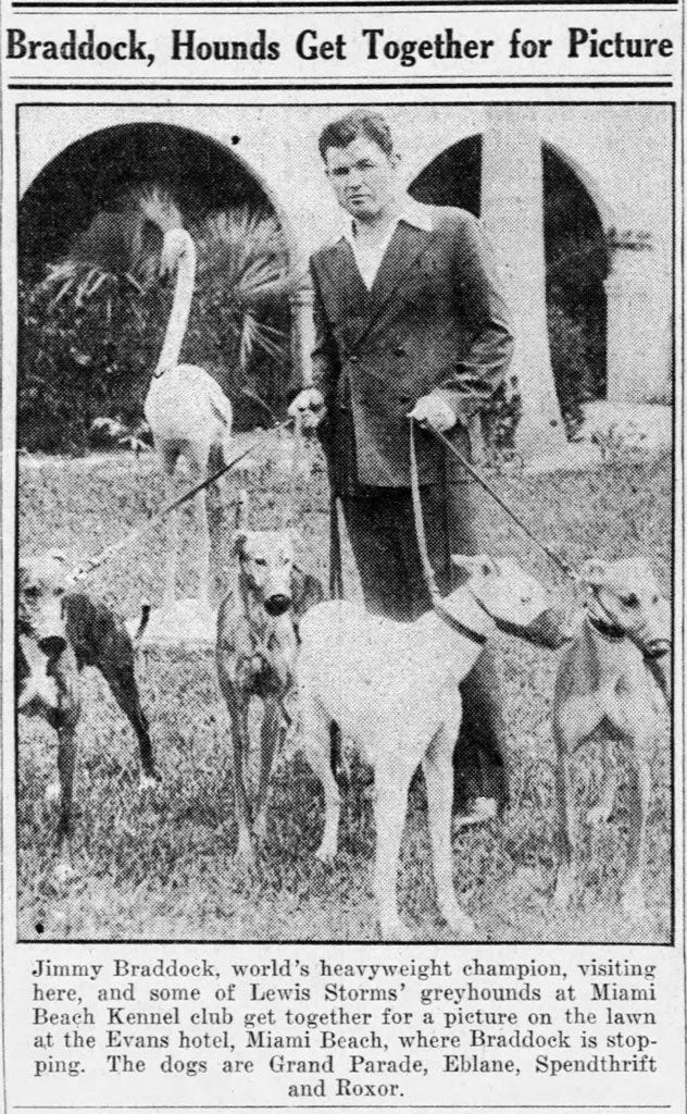
M513 354L510 313L499 290L492 246L480 221L458 231L454 248L457 310L472 342L461 363L434 388L462 424L484 409Z

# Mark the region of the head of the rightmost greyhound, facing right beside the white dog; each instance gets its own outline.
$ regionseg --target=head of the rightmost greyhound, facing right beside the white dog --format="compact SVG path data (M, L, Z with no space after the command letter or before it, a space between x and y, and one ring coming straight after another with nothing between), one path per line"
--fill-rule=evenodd
M641 557L585 563L580 580L587 589L590 617L615 628L645 657L663 657L670 649L670 610L656 577Z

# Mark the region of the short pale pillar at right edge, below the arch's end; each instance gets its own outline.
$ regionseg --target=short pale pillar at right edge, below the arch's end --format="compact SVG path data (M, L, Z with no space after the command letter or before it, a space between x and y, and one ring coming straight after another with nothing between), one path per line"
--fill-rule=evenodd
M614 229L608 299L607 399L671 400L670 266L648 232Z

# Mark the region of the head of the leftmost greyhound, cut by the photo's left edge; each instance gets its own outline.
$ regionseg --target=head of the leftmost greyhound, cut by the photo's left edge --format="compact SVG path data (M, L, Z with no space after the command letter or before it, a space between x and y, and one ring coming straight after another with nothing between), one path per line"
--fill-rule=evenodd
M67 647L65 596L71 587L70 565L62 553L51 549L19 567L18 619L49 658Z

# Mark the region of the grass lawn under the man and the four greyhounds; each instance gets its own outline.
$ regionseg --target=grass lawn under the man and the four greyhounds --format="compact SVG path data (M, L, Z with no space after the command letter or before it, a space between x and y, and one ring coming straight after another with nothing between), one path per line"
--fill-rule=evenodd
M241 438L237 439L241 442ZM264 450L268 457L271 448ZM671 476L668 457L608 465L586 473L499 479L501 490L573 565L591 554L650 557L670 593ZM228 502L235 480L223 487ZM252 525L279 521L287 485L265 459L248 480ZM163 485L153 458L135 468L106 459L90 468L59 461L23 466L20 551L59 546L75 558L99 551L158 507ZM302 564L326 583L327 498L321 472L301 492ZM481 548L511 554L551 587L560 579L488 498L480 499ZM226 578L232 508L216 508L218 589ZM190 514L183 534L189 537ZM183 554L179 588L194 594L193 550ZM356 594L350 555L345 583ZM92 576L127 616L140 599L160 602L163 536L154 529ZM566 589L567 590L567 589ZM468 830L454 842L454 880L480 940L666 941L670 934L671 760L667 721L657 724L651 761L647 910L634 921L620 909L628 815L624 779L605 828L587 831L579 893L559 913L546 888L553 811L548 717L557 655L499 639L513 768L512 804L502 824ZM322 823L317 782L300 754L282 758L268 813L268 840L256 877L237 869L226 709L212 653L155 649L139 661L144 706L163 782L138 793L138 762L128 723L105 682L87 671L79 729L73 852L77 877L51 878L55 815L45 803L56 776L56 739L38 720L20 721L19 935L23 939L374 940L370 885L374 848L366 785L354 782L342 813L341 853L323 868L312 851ZM618 761L624 765L622 753ZM593 802L597 746L580 753L578 791ZM399 878L402 916L418 940L452 939L435 907L424 794L411 795ZM37 925L42 935L37 935Z

